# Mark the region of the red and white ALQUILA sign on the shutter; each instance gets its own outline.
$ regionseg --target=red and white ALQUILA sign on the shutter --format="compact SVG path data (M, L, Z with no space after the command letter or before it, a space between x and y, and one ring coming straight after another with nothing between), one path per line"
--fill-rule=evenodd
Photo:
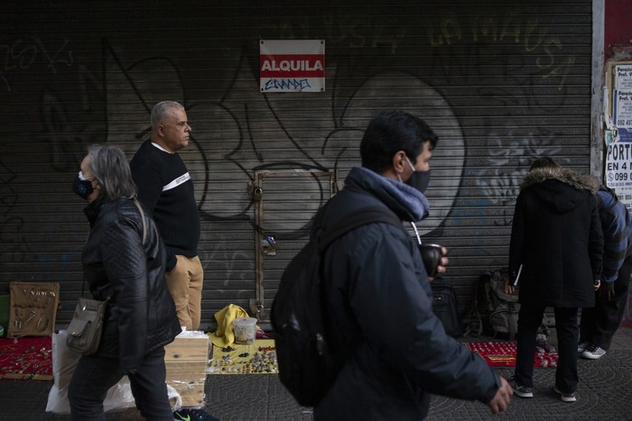
M261 92L323 92L324 40L259 41Z

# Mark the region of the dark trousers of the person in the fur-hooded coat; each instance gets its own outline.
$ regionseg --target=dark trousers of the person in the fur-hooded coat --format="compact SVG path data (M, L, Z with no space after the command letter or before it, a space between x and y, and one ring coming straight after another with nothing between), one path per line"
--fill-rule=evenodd
M534 387L535 335L542 325L546 307L520 305L516 352L516 383ZM577 323L578 308L555 307L555 330L557 332L558 362L555 384L564 393L577 390L577 343L580 327ZM553 386L553 385L552 385Z

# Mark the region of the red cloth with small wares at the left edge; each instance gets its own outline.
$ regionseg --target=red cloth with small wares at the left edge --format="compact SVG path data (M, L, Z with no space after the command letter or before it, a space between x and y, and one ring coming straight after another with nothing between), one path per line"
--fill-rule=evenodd
M0 380L52 380L51 336L0 339Z

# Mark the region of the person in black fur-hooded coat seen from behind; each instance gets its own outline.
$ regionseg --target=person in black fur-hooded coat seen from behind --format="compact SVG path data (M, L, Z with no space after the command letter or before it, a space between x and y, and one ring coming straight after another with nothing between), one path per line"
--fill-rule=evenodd
M517 396L534 396L534 352L545 307L553 307L558 364L553 390L576 400L580 307L592 307L599 288L603 233L595 194L599 180L563 168L549 157L534 161L516 199L509 245L510 282L519 288Z

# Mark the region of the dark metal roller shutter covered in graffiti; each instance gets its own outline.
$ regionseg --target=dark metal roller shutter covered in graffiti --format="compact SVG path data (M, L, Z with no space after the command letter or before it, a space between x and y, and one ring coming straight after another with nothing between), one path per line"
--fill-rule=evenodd
M230 303L269 307L287 251L306 241L303 223L329 191L298 191L292 174L329 172L341 185L379 111L404 108L440 136L432 214L420 226L425 241L450 248L462 314L479 273L507 264L531 161L547 154L590 169L587 0L0 7L0 292L12 280L60 282L58 325L81 289L88 224L70 192L79 160L94 142L131 158L163 99L185 105L193 128L182 156L200 203L202 327L211 330ZM262 94L260 39L325 40L325 92ZM265 199L257 210L259 181L274 192L272 208ZM276 255L264 254L264 233L276 235Z

